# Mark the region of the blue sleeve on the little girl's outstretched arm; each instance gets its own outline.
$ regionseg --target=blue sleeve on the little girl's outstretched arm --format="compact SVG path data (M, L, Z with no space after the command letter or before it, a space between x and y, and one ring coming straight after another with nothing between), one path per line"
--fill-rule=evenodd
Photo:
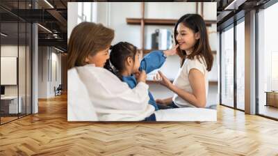
M163 51L156 50L153 52L150 52L144 58L142 59L140 63L139 70L145 70L148 74L149 72L152 72L153 70L156 70L158 68L161 68L163 63L165 62L166 58L163 56Z

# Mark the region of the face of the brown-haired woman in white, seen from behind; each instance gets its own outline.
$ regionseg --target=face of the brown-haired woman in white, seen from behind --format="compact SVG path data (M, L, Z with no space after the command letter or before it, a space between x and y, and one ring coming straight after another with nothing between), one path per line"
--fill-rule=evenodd
M109 47L110 45L106 49L97 52L97 54L95 54L94 56L90 56L90 55L87 56L85 58L85 63L95 64L96 67L103 68L106 61L109 59L109 53L108 53Z

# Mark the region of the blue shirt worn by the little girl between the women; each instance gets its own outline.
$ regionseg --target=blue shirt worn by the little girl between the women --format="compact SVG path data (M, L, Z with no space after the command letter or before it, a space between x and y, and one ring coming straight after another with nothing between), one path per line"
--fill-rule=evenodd
M145 70L148 74L149 72L152 72L153 70L156 70L158 68L161 68L163 63L165 62L166 57L163 55L163 51L154 51L150 52L144 58L142 59L140 63L139 70ZM134 75L131 75L129 77L122 77L122 81L126 82L129 85L129 88L134 88L137 84L136 78ZM152 104L155 108L155 110L158 110L156 100L154 100L154 97L152 96L152 93L149 92L149 104Z

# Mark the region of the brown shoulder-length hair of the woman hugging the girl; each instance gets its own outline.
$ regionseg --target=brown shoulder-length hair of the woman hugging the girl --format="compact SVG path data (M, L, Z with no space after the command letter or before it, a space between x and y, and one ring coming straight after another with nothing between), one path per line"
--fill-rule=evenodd
M74 27L68 49L68 69L85 65L85 58L106 49L114 38L114 31L102 24L82 22Z

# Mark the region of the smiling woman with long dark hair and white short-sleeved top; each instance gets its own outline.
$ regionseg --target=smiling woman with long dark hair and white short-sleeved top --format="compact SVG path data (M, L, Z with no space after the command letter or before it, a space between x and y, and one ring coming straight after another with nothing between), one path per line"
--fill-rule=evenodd
M174 36L181 58L179 74L173 84L161 72L155 77L173 91L174 96L156 102L171 108L204 108L208 94L208 72L213 65L206 24L200 15L183 15L174 26Z

